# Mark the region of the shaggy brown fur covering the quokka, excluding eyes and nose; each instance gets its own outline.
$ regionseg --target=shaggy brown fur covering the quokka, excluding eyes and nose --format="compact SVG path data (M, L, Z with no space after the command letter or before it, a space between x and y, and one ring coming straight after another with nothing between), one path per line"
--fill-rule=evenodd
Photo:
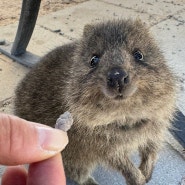
M135 50L143 60L133 57ZM92 68L94 55L100 61ZM128 75L121 86L108 85L114 68ZM175 78L148 29L118 20L87 25L80 40L47 54L17 88L15 107L18 116L50 126L71 112L74 124L62 155L66 175L78 184L97 184L90 174L104 164L128 185L144 185L170 127L175 94ZM136 150L139 168L129 159Z

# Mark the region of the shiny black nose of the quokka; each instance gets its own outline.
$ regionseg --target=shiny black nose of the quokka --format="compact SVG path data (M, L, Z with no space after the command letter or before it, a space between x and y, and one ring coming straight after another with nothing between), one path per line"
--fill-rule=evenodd
M112 68L108 72L107 85L112 88L117 88L121 92L124 85L129 82L128 74L120 68Z

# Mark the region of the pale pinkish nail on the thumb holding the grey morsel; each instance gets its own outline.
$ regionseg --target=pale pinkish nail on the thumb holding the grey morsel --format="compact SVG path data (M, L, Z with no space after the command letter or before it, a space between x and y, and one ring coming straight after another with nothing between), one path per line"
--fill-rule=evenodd
M39 144L43 150L59 152L68 143L67 133L58 129L37 127Z

